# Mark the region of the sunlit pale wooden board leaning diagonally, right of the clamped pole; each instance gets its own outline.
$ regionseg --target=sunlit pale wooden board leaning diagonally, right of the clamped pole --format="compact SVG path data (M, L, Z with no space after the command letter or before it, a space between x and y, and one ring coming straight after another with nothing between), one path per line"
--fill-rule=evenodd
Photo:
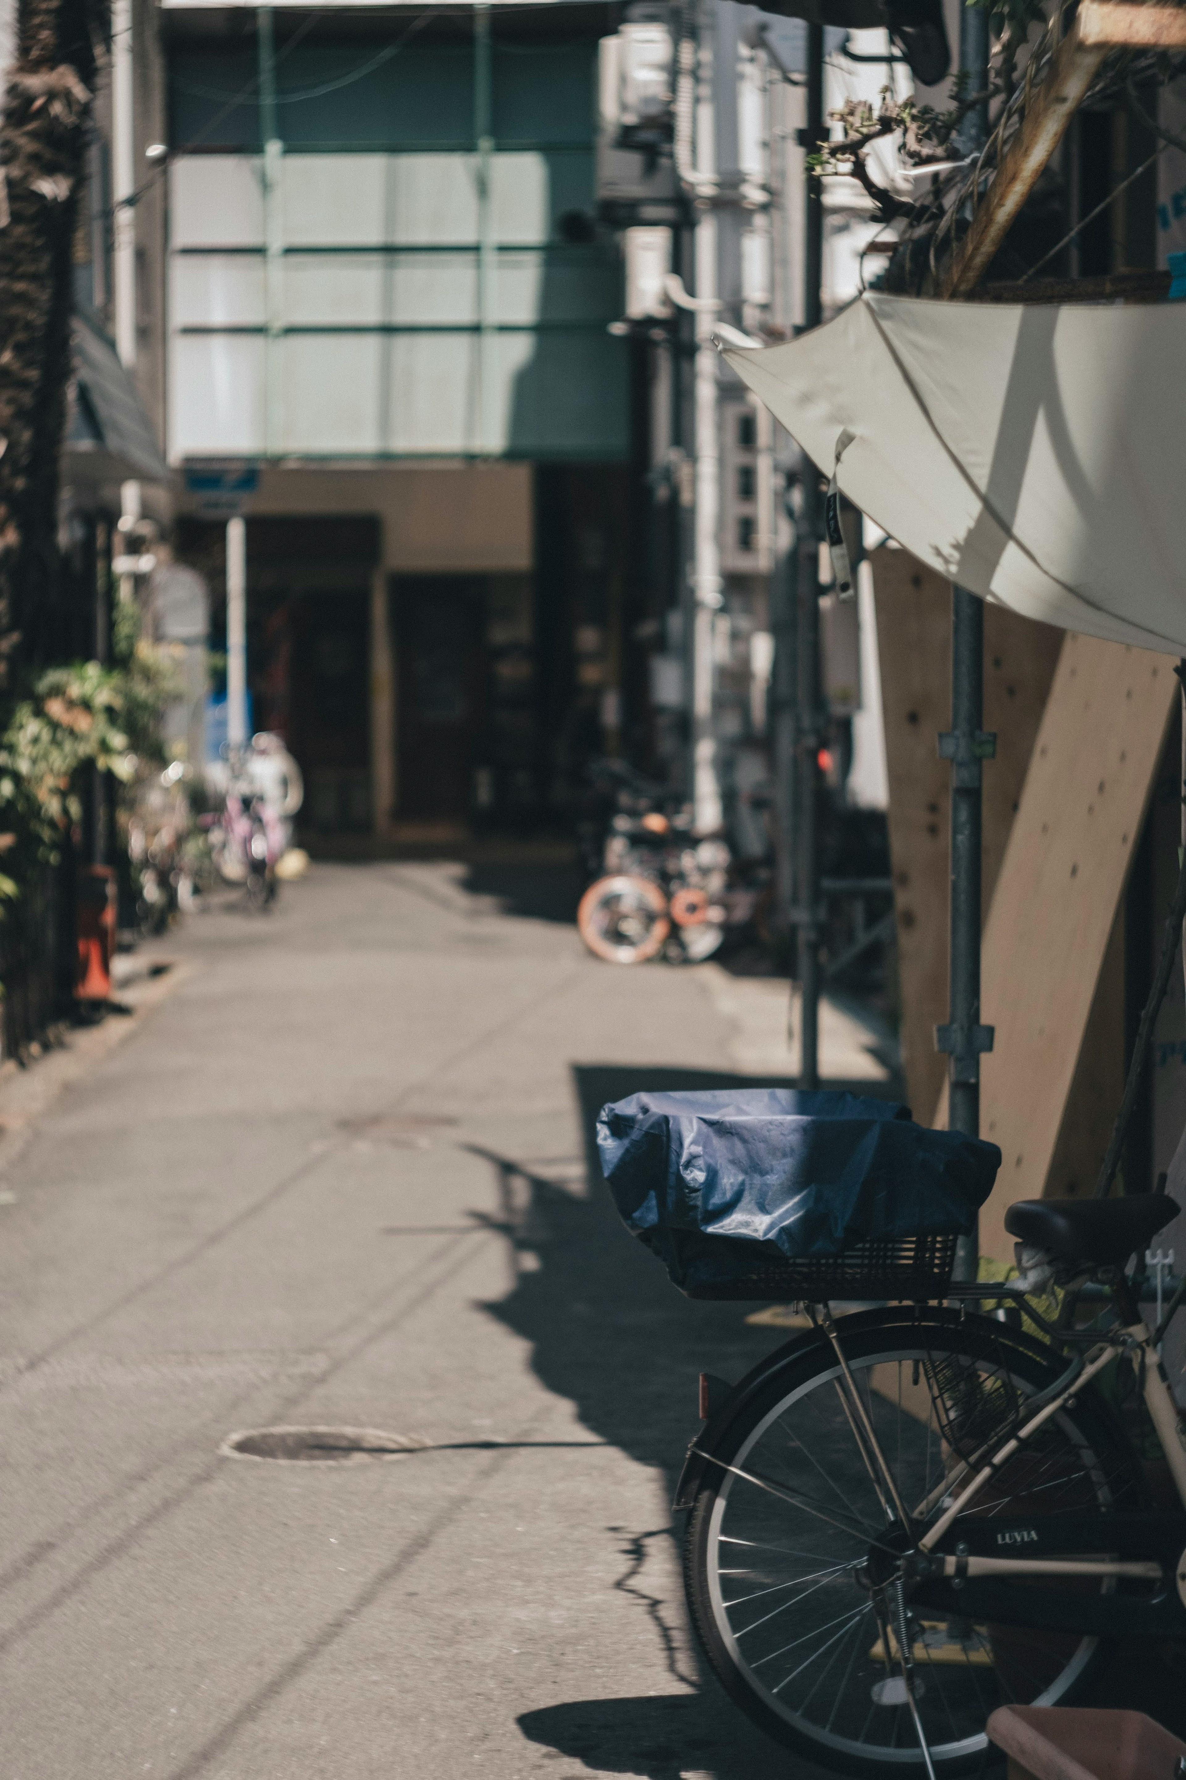
M996 1260L1014 1258L1005 1210L1044 1193L1079 1057L1088 1063L1088 1016L1175 691L1166 655L1074 634L1063 643L983 940L982 1018L996 1047L982 1059L980 1130L1005 1159L980 1250ZM946 1123L946 1082L935 1123Z

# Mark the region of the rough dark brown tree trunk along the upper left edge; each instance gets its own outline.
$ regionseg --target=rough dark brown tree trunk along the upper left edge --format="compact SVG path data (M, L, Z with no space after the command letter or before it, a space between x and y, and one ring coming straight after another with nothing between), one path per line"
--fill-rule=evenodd
M52 659L71 240L91 121L87 0L20 0L0 128L0 675Z

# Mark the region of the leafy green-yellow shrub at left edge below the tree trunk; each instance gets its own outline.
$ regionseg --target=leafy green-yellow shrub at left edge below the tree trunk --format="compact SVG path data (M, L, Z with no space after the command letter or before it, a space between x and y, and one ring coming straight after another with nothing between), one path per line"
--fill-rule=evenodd
M132 785L162 762L160 716L178 696L169 651L140 641L139 611L128 602L112 618L112 666L46 668L9 707L0 733L0 918L82 821L85 769Z

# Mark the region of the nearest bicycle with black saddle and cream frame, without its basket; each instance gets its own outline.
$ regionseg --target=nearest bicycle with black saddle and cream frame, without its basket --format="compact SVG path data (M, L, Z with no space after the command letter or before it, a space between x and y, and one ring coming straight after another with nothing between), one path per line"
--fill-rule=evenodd
M770 1736L878 1780L976 1773L996 1705L1070 1703L1110 1639L1186 1638L1186 1419L1158 1356L1186 1287L1150 1331L1124 1271L1175 1212L1159 1194L1021 1202L1012 1285L951 1283L955 1239L914 1237L702 1294L795 1298L809 1321L734 1388L702 1380L676 1490L693 1625ZM1076 1328L1090 1282L1110 1308ZM1051 1285L1054 1323L1035 1301ZM843 1299L898 1303L837 1323ZM1099 1390L1126 1362L1175 1513Z

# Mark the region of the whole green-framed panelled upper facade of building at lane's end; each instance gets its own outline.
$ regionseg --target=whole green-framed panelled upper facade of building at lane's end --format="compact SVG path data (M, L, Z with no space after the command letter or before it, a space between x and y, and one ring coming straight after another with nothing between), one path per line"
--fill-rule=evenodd
M265 194L256 44L180 46L174 456L622 459L594 64L592 39L281 43Z

